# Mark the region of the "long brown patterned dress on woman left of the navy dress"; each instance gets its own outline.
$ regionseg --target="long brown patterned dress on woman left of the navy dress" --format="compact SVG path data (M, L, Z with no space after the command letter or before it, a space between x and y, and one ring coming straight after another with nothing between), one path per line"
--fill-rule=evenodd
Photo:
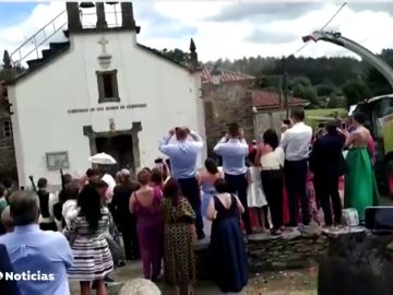
M167 283L188 284L195 280L195 259L190 225L195 213L186 198L180 198L177 206L170 199L164 199L164 269Z

